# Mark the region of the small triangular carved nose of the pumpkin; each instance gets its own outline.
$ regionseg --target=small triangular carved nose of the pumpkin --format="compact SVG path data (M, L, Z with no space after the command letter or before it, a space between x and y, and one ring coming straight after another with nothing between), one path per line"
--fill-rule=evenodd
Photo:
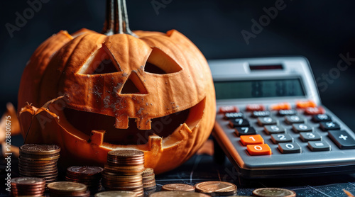
M121 94L148 94L146 87L136 72L131 72L122 87Z

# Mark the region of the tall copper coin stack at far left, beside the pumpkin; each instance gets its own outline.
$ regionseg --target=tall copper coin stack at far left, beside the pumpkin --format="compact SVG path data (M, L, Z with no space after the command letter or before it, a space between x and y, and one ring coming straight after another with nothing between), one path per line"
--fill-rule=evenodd
M20 176L45 179L46 183L57 181L57 162L60 157L57 145L27 144L20 147L18 170Z

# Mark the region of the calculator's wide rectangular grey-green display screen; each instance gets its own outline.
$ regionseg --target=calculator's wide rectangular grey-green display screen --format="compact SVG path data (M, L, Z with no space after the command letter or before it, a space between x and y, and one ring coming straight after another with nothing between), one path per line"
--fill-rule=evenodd
M305 96L300 79L214 81L216 99Z

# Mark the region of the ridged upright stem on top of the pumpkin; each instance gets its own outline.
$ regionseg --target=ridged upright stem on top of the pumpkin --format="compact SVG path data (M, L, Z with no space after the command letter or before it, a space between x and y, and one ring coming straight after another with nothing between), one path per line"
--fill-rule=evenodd
M102 33L105 35L125 33L138 37L129 29L126 0L107 0L106 2L106 21Z

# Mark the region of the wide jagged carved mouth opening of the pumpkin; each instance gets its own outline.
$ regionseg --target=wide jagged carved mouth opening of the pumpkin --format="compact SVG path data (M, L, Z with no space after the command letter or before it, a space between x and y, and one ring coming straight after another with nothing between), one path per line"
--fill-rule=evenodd
M141 130L137 127L135 118L129 118L129 128L115 128L115 117L105 116L99 113L78 111L72 108L64 108L63 115L77 131L87 135L92 135L93 130L104 133L103 142L109 146L114 145L143 145L152 137L169 137L173 133L178 133L179 128L186 124L191 131L196 127L203 115L204 99L197 105L187 108L184 111L171 113L168 116L153 118L150 130ZM62 122L63 118L61 118ZM82 124L85 123L85 124ZM119 135L117 135L119 133ZM75 134L75 133L73 133Z

